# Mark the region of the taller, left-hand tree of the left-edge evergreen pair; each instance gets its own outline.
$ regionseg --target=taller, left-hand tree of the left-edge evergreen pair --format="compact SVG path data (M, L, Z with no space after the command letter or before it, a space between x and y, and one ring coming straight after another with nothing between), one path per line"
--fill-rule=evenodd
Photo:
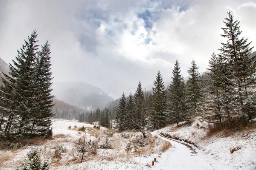
M6 94L7 98L4 99L9 101L9 105L6 108L9 114L5 128L6 134L9 133L12 125L14 125L14 119L16 119L15 126L19 124L19 133L22 130L23 133L26 133L31 124L29 117L33 114L32 108L36 105L34 91L37 90L34 84L35 59L38 50L38 45L35 45L38 42L36 38L37 33L33 31L28 36L28 41L25 40L25 44L22 45L20 51L17 51L17 62L12 60L14 65L9 64L9 74L11 77L4 74L5 80L3 84L5 88L9 89L9 94ZM1 109L4 109L4 107L1 106ZM21 120L17 122L19 118ZM15 130L16 128L13 129L13 133L15 133Z

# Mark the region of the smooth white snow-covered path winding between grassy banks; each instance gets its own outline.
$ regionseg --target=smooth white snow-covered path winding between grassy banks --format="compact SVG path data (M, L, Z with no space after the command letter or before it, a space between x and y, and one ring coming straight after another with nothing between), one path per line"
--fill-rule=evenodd
M159 135L157 131L151 132L152 135ZM163 140L172 143L172 148L163 153L158 162L154 165L157 170L213 170L211 166L203 157L198 153L193 153L191 149L184 144L166 139L160 136Z

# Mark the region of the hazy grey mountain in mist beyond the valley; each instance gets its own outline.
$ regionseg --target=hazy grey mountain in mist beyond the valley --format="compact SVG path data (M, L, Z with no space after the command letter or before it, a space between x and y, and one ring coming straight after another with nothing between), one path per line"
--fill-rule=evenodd
M53 83L52 88L52 94L57 99L87 111L105 108L108 102L113 101L113 98L100 88L84 82Z

